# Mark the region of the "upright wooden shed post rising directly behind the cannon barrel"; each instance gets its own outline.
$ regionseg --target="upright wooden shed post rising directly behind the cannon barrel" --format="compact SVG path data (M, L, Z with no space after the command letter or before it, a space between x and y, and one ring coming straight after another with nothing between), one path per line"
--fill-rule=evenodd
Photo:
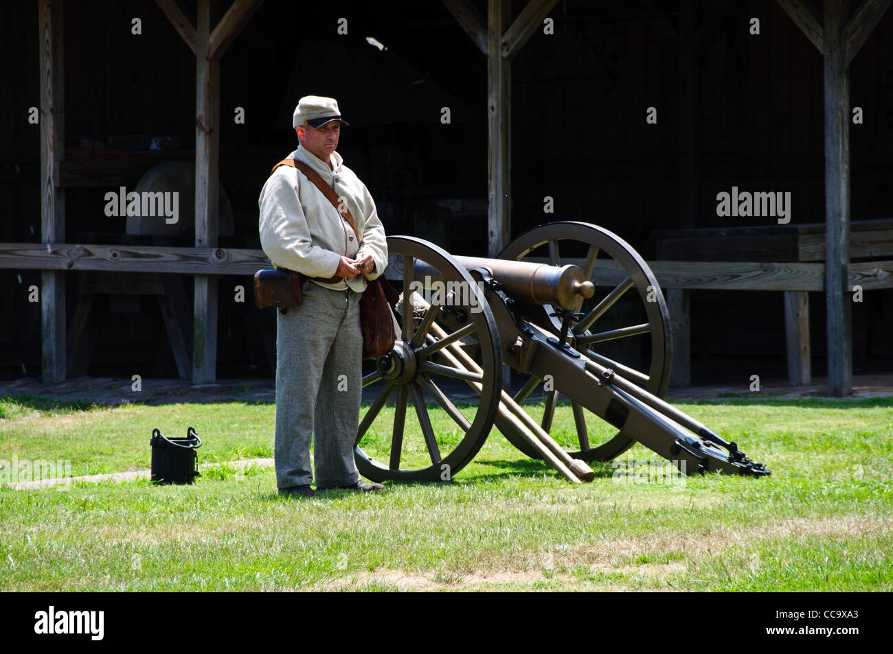
M510 0L488 0L487 119L488 216L487 252L495 257L512 236L511 63L502 56L502 35L510 17Z

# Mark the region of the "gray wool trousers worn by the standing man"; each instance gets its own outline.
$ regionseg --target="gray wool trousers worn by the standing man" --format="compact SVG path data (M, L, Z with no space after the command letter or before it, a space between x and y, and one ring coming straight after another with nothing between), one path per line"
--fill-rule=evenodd
M305 281L304 303L276 331L276 485L330 488L360 479L354 441L363 391L360 298Z

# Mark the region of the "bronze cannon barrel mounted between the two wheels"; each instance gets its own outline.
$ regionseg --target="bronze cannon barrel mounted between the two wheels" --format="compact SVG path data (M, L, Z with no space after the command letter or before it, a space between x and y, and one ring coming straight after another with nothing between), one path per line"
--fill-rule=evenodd
M530 261L508 261L483 257L455 257L463 268L487 269L490 275L503 286L509 297L517 302L529 304L557 304L563 309L575 309L580 297L592 297L595 286L583 275L580 266L550 266L547 263ZM416 261L415 280L422 282L426 277L430 284L442 281L437 269Z

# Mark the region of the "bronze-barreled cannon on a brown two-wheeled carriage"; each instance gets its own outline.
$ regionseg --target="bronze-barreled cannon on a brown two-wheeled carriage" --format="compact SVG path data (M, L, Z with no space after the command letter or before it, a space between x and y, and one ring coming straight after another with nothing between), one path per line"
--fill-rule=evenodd
M687 475L770 474L737 443L663 402L672 360L667 305L647 263L607 229L549 223L496 259L453 256L412 236L388 237L388 252L399 334L363 375L374 397L355 441L363 476L445 481L493 426L572 483L591 481L589 462L634 443ZM514 394L504 365L524 376ZM535 419L522 402L538 385L544 410ZM553 429L559 393L571 402L571 435ZM390 423L381 410L392 400Z

